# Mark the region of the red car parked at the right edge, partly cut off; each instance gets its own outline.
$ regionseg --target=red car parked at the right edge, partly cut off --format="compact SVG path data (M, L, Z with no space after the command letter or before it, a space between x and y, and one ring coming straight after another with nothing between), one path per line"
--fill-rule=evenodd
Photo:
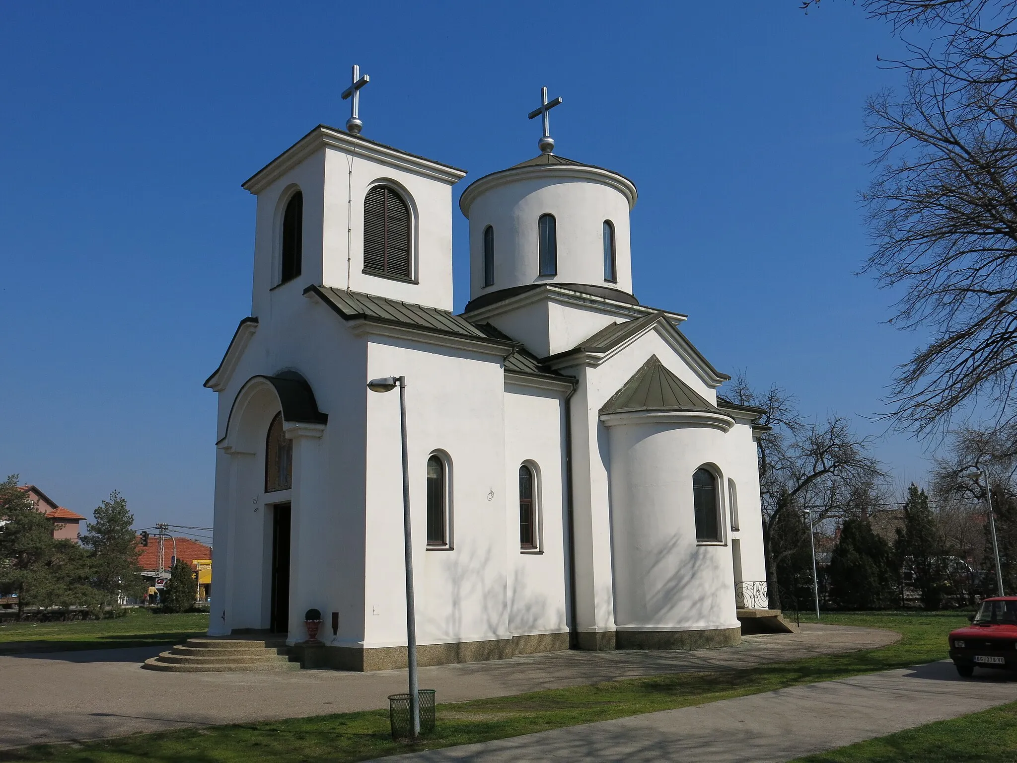
M975 667L1017 669L1017 596L982 601L971 625L950 633L950 659L965 678Z

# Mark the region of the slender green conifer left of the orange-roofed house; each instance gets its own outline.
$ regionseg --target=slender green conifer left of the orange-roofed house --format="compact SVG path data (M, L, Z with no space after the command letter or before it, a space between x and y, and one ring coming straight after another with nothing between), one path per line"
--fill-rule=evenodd
M137 560L140 548L131 526L134 515L116 490L95 511L95 522L86 526L81 545L91 551L93 586L102 596L103 609L116 606L121 594L139 597L144 590Z

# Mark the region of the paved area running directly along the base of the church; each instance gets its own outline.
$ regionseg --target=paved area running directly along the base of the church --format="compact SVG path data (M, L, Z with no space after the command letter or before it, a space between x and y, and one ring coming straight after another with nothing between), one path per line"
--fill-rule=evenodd
M438 702L689 670L749 667L819 654L871 649L891 631L802 626L786 635L749 636L739 646L671 652L551 652L424 667L421 686ZM0 748L115 737L182 726L321 715L387 706L406 691L405 670L370 673L174 673L142 670L166 647L0 656Z

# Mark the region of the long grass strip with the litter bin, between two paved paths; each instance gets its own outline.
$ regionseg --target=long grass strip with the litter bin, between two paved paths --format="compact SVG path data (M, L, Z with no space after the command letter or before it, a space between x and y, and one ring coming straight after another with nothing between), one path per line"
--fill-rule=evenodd
M888 628L901 633L902 638L882 649L771 663L742 670L655 676L514 697L439 704L436 731L413 746L394 743L388 737L387 711L374 710L133 735L80 745L41 745L0 752L0 761L296 763L306 760L366 760L411 750L484 742L699 705L799 684L931 662L947 656L947 633L965 625L967 618L948 612L876 612L824 614L823 622Z

